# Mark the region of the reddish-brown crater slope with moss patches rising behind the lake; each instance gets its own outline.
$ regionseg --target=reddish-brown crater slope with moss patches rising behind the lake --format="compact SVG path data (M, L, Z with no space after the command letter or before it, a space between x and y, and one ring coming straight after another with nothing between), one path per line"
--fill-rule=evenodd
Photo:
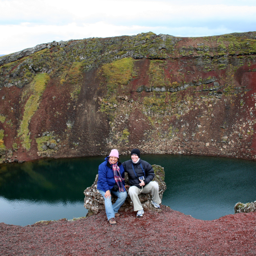
M256 32L152 32L0 57L0 158L144 153L255 159Z

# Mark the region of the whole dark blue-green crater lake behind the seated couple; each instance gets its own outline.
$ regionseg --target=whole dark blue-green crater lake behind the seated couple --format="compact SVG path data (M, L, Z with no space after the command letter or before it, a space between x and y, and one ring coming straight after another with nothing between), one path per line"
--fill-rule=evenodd
M121 161L130 159L121 156ZM256 200L256 163L183 155L143 155L166 172L163 204L201 220L234 213ZM0 166L0 222L34 224L85 216L84 189L93 184L104 157L48 159Z

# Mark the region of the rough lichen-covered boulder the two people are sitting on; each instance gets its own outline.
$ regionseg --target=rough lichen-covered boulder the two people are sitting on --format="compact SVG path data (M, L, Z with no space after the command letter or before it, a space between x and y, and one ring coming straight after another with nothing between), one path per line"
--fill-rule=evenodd
M162 200L163 192L166 190L166 183L164 182L164 168L162 166L157 166L155 164L152 165L152 168L155 172L154 181L157 181L159 185L159 197ZM94 183L91 187L88 187L84 191L85 199L84 199L84 207L89 210L89 214L93 213L96 214L101 210L105 210L104 199L101 194L97 191L97 181L98 181L98 174L94 180ZM125 184L129 185L129 179L127 173L125 173ZM117 198L112 196L112 203L115 202ZM155 209L151 205L151 193L139 195L139 200L142 203L143 209ZM125 203L122 205L120 210L133 210L133 202L130 199L128 194Z

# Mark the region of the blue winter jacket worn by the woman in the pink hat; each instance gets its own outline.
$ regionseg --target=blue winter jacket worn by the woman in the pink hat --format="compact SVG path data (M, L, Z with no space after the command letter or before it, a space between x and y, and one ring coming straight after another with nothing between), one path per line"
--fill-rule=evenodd
M120 168L120 174L122 178L125 178L125 170L122 163L118 161L117 165ZM97 189L102 191L108 191L114 187L115 179L112 170L112 165L109 163L109 157L105 158L105 161L98 166L98 183ZM123 188L125 189L125 181L123 180Z

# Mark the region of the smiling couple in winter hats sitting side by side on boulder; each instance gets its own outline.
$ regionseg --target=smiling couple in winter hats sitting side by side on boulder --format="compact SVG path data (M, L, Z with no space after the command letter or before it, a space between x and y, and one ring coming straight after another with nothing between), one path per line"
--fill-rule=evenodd
M141 152L135 148L131 150L131 160L124 163L119 162L119 154L113 149L105 161L98 167L97 189L105 200L106 216L110 224L116 224L115 217L118 217L119 208L127 197L126 189L129 189L129 196L133 201L137 217L142 217L144 210L139 201L141 193L152 193L151 204L160 208L159 187L154 179L155 173L152 166L140 159ZM129 177L130 185L125 185L125 172ZM112 205L111 194L117 196L117 201Z

